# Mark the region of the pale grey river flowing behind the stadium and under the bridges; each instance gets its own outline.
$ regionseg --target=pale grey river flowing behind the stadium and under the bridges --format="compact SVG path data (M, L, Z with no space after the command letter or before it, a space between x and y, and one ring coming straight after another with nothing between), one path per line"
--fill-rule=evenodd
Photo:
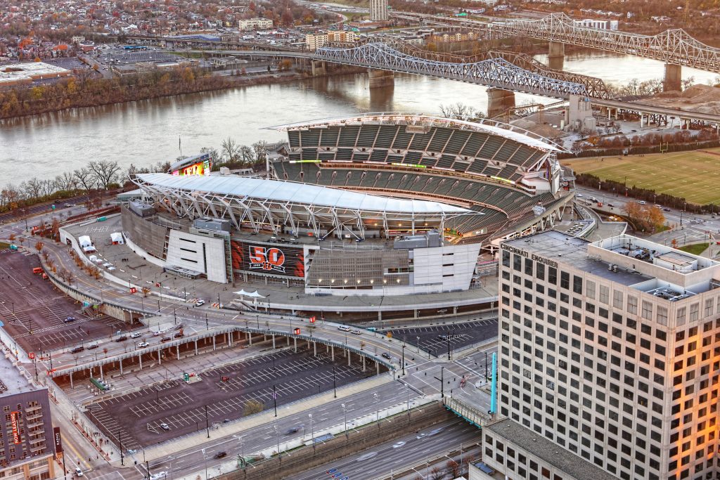
M546 60L538 55L541 61ZM660 78L655 60L606 53L568 55L565 70L625 83ZM683 78L708 83L716 75L683 68ZM516 103L554 99L516 95ZM145 166L174 160L202 147L220 148L225 137L250 145L282 140L266 127L359 112L439 112L441 104L462 102L487 109L485 87L438 78L396 75L395 86L369 89L363 74L315 78L298 83L251 86L129 104L73 109L0 121L0 185L37 176L53 178L90 160L117 160Z

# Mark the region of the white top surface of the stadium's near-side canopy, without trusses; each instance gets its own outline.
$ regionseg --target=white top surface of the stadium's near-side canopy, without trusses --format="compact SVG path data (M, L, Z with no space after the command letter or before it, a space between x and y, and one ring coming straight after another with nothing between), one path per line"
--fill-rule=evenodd
M143 183L169 189L202 191L268 201L293 202L353 209L368 212L397 212L409 214L462 214L468 209L454 207L439 201L405 200L386 196L362 194L356 191L333 189L326 186L300 184L292 181L267 180L237 176L177 176L166 173L138 175Z

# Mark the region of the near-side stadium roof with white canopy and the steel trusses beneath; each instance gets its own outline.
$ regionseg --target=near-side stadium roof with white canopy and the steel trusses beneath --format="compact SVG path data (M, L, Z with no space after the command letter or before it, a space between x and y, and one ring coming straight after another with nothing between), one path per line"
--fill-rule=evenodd
M446 220L476 217L474 212L438 201L395 199L292 181L236 176L174 176L143 173L132 181L160 207L178 217L225 218L235 228L276 235L289 230L315 237L355 235L365 231L415 232L439 228Z

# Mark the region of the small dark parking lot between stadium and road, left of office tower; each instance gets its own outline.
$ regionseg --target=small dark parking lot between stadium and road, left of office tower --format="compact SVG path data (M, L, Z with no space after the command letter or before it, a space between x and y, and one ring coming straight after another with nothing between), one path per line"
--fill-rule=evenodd
M393 338L405 340L410 345L420 348L433 355L447 353L448 342L451 350L467 347L482 342L487 338L498 336L498 319L475 320L457 324L436 325L433 327L398 328L390 330ZM385 331L384 333L387 333ZM448 340L449 335L449 340Z

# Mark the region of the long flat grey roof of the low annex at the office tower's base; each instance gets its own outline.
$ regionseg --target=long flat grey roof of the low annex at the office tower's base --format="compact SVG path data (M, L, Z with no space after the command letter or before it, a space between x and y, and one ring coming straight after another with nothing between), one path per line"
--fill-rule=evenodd
M574 479L617 480L617 477L570 453L552 441L509 418L485 425L485 430L505 438Z

